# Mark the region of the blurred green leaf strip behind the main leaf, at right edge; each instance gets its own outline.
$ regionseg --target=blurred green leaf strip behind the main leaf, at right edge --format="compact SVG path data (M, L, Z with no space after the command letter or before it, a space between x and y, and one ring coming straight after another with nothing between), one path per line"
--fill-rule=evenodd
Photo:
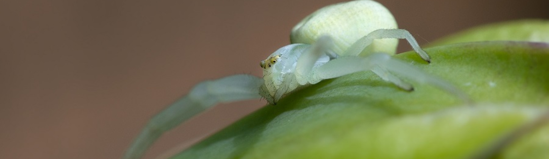
M549 20L527 19L477 26L442 38L433 42L430 46L476 41L549 43Z

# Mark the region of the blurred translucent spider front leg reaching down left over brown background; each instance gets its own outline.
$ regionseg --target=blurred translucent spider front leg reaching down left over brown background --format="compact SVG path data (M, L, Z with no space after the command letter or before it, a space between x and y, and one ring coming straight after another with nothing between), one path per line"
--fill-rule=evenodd
M251 75L233 75L198 83L187 95L167 106L143 128L124 154L124 159L141 158L164 132L219 103L259 99L263 79Z

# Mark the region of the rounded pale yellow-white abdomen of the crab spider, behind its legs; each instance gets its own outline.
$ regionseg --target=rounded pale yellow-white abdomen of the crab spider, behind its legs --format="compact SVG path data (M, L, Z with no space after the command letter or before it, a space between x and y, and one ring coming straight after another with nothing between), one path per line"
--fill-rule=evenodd
M351 1L321 8L292 29L292 43L312 44L322 35L333 38L334 52L341 55L358 39L378 29L397 29L395 18L375 1ZM395 54L397 39L376 39L361 55L367 53Z

